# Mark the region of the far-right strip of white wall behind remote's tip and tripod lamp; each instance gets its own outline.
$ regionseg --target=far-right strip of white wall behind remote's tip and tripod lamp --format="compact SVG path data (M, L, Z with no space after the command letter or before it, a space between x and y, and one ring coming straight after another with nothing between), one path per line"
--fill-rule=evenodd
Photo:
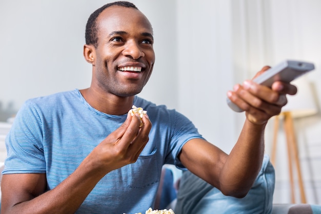
M302 59L315 63L316 69L307 78L314 87L312 91L316 104L321 104L321 2L318 0L270 1L271 56L273 62L285 57ZM309 203L321 203L321 115L294 121L299 158L303 171L306 197ZM281 128L280 132L283 129ZM280 133L279 150L276 162L275 200L288 202L289 179L285 142ZM283 140L283 141L282 141ZM295 177L297 182L297 176ZM298 188L296 201L299 201Z

